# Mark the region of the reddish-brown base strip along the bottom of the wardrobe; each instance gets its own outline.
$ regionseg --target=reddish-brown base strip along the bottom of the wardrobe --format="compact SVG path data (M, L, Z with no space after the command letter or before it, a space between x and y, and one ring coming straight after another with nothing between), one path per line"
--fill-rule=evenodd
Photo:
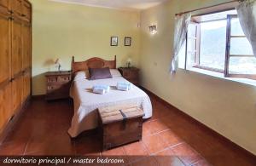
M20 112L15 111L15 115L11 117L9 121L3 126L3 130L0 133L0 146L3 144L5 138L9 135L9 132L14 128L21 115L25 112L26 107L29 105L30 101L31 96L28 96L22 105L18 108Z

